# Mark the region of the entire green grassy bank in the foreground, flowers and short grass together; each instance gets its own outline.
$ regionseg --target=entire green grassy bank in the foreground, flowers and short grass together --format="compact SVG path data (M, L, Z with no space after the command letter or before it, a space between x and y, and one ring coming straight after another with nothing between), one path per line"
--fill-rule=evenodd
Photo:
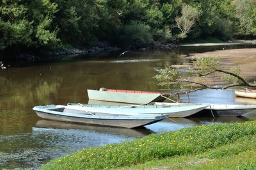
M204 125L84 149L42 169L255 168L255 141L256 121Z

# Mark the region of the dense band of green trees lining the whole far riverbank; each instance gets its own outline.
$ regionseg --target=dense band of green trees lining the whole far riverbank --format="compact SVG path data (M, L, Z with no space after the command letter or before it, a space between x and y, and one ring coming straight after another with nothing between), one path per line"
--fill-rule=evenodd
M185 26L186 20L193 24ZM184 37L253 35L253 0L0 1L0 50L84 47L99 41L140 47Z

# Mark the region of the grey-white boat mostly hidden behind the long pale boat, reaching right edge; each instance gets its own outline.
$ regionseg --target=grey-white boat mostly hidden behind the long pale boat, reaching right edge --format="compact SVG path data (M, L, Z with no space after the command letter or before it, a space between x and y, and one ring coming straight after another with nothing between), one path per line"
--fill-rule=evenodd
M177 105L175 103L155 103L157 105ZM178 104L179 105L179 104ZM189 105L189 104L184 104ZM250 112L256 109L256 105L244 105L244 104L209 104L204 110L195 114L195 116L241 116L246 112ZM194 115L193 115L194 116Z

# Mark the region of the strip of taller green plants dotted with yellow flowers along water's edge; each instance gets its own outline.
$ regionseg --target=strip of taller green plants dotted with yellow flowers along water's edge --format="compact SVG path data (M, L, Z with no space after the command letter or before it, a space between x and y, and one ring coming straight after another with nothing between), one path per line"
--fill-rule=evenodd
M203 153L241 137L256 134L256 121L183 128L152 134L122 144L83 149L42 166L42 169L106 169L141 164L156 158Z

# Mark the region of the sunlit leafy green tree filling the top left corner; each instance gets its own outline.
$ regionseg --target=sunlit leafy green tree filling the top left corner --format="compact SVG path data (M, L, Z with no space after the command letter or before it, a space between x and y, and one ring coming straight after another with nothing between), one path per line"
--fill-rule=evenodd
M58 29L52 23L57 7L49 0L1 1L0 49L58 44Z

